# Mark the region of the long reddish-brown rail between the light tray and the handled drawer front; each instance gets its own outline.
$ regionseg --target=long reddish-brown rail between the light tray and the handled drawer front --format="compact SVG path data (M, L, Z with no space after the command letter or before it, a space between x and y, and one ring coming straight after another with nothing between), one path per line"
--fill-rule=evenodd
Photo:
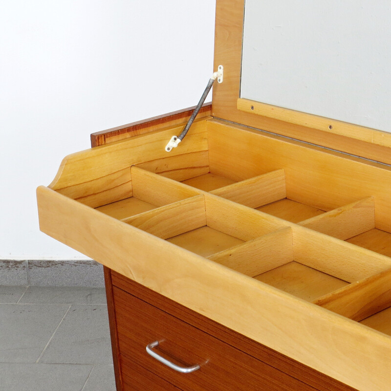
M120 289L128 292L143 301L152 304L153 306L162 309L163 311L174 315L176 318L185 321L186 323L207 332L208 334L217 337L219 340L242 350L243 352L257 358L260 361L268 363L273 368L279 369L301 380L303 383L312 386L316 390L322 391L352 391L349 386L337 382L326 376L323 373L317 372L314 369L305 367L297 361L292 360L287 356L271 350L247 337L224 327L211 319L208 319L189 308L184 307L145 286L134 282L125 276L113 272L113 283ZM127 310L128 311L128 310ZM300 391L300 388L295 388L295 391Z

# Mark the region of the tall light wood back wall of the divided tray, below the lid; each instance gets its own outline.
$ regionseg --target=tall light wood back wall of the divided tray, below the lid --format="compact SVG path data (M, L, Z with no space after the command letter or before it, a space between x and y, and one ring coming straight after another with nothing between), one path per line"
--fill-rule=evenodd
M390 167L218 120L208 121L208 134L212 172L241 180L284 169L287 198L326 211L373 196L375 226L391 231Z

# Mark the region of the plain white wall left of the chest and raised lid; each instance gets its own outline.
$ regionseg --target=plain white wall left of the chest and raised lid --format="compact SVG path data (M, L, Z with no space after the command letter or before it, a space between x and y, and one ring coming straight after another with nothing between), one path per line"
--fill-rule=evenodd
M91 132L194 106L214 18L213 0L2 1L0 259L86 258L39 231L35 188Z

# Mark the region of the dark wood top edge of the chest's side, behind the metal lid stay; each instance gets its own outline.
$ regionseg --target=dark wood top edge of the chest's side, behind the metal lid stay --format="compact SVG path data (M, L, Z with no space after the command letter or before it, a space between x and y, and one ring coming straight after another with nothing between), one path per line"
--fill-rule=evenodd
M123 140L139 134L148 133L168 126L180 125L186 123L192 115L195 107L173 111L168 114L159 115L146 120L132 122L128 125L122 125L108 130L102 130L91 134L91 147L112 143ZM208 117L212 112L212 104L205 103L199 110L196 119Z

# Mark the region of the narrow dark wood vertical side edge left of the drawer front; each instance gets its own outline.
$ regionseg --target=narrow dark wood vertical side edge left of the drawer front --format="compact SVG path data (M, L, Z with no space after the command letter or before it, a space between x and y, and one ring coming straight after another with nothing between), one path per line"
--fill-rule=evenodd
M115 386L117 389L116 391L123 391L121 360L120 360L119 345L118 345L117 318L115 316L111 270L106 266L103 266L103 270L105 274L107 309L109 312L109 326L110 326L111 350L113 353Z

